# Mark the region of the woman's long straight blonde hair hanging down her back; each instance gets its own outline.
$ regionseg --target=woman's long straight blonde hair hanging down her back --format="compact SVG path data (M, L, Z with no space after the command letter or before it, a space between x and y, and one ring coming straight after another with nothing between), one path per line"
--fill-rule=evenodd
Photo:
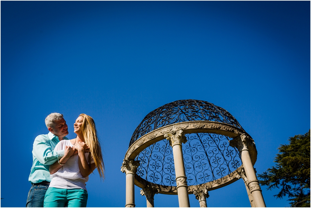
M94 119L84 113L81 113L79 116L83 117L81 128L84 142L87 144L87 146L90 147L90 152L93 156L100 178L104 179L105 166L103 161L103 155L101 154L100 143L97 138L97 131L95 128ZM89 157L89 159L90 158L91 157Z

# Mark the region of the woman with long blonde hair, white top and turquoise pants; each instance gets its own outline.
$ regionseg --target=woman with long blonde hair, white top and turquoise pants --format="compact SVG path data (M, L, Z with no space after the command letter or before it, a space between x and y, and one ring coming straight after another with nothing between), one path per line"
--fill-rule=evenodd
M97 168L104 178L104 163L91 116L80 114L74 123L77 138L60 141L54 150L64 150L63 158L50 165L51 183L44 207L86 207L86 182ZM88 152L89 149L89 152Z

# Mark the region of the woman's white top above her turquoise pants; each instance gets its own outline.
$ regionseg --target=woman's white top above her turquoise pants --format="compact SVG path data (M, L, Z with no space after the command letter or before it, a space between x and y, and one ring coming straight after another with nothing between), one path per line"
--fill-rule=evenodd
M63 150L65 149L66 145L73 147L70 140L62 140L55 146L54 151ZM85 157L86 161L88 162L89 153L85 153ZM79 169L78 159L78 154L71 156L62 168L60 168L56 173L52 174L50 176L52 180L49 187L66 189L80 188L86 190L85 183L89 180L89 177L82 177ZM92 156L91 163L94 163Z

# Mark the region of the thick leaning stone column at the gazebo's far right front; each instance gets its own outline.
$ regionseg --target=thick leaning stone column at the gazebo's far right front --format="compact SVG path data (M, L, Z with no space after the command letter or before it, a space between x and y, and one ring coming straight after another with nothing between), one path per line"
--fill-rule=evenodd
M248 179L249 193L253 196L255 207L266 207L261 193L262 190L260 189L251 157L248 152L248 147L254 144L254 140L248 138L245 134L242 134L230 141L230 146L236 147L240 152L245 174Z

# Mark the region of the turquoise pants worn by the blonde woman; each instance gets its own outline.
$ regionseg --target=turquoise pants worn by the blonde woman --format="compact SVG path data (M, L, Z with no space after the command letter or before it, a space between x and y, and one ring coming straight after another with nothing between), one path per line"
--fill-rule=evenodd
M86 207L87 192L84 189L49 187L43 207Z

